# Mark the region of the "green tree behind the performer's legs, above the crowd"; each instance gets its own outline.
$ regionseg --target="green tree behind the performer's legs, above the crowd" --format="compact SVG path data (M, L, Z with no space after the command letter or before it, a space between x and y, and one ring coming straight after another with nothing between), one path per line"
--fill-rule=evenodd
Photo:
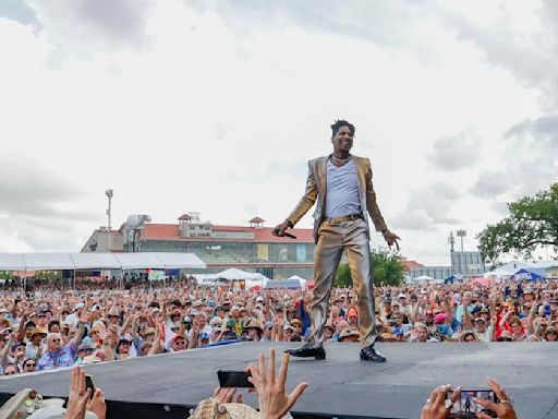
M371 262L375 285L399 285L403 282L404 268L398 256L387 253L372 253ZM333 285L336 287L350 287L352 284L353 279L349 264L340 264Z

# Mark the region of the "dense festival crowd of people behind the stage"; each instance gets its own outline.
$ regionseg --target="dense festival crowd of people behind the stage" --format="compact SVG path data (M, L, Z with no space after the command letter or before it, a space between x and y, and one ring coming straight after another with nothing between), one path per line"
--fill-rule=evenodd
M384 342L558 342L558 284L505 282L375 287ZM225 340L303 342L312 290L232 290L172 280L157 288L48 284L0 294L0 372L174 352ZM330 294L328 342L359 342L355 294Z

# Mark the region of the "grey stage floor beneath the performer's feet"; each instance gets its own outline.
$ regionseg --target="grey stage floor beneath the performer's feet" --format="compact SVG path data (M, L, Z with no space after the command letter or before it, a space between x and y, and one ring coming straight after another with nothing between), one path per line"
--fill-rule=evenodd
M156 417L170 418L178 417L177 405L194 406L213 394L218 369L243 369L271 347L282 351L295 346L234 344L94 364L86 370L107 399L156 404L160 407ZM360 361L356 344L326 345L324 361L293 358L289 390L302 381L310 383L294 407L294 416L416 419L434 387L485 388L490 375L511 394L520 418L558 418L558 345L379 343L377 348L387 356L386 363ZM32 387L44 395L66 396L69 380L69 371L60 370L5 376L0 379L0 393ZM254 395L244 399L253 406L257 403ZM185 410L180 409L182 415ZM154 418L153 414L142 416L140 411L134 418Z

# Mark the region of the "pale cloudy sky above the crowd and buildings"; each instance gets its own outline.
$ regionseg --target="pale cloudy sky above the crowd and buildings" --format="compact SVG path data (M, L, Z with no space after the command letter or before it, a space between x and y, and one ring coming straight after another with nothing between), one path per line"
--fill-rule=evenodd
M0 251L78 251L108 188L278 224L337 118L422 263L557 179L553 0L1 0L0 55Z

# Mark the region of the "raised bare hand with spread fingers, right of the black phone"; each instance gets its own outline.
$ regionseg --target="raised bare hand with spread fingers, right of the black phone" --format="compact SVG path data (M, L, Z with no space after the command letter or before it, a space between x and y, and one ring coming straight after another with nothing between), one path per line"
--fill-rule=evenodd
M259 355L259 367L250 366L246 371L250 371L252 374L248 381L254 384L258 395L262 419L282 418L308 386L306 383L301 383L291 394L286 394L284 385L287 384L287 373L289 371L289 355L283 354L281 370L276 379L275 349L269 351L269 371L266 371L266 360L263 354Z

